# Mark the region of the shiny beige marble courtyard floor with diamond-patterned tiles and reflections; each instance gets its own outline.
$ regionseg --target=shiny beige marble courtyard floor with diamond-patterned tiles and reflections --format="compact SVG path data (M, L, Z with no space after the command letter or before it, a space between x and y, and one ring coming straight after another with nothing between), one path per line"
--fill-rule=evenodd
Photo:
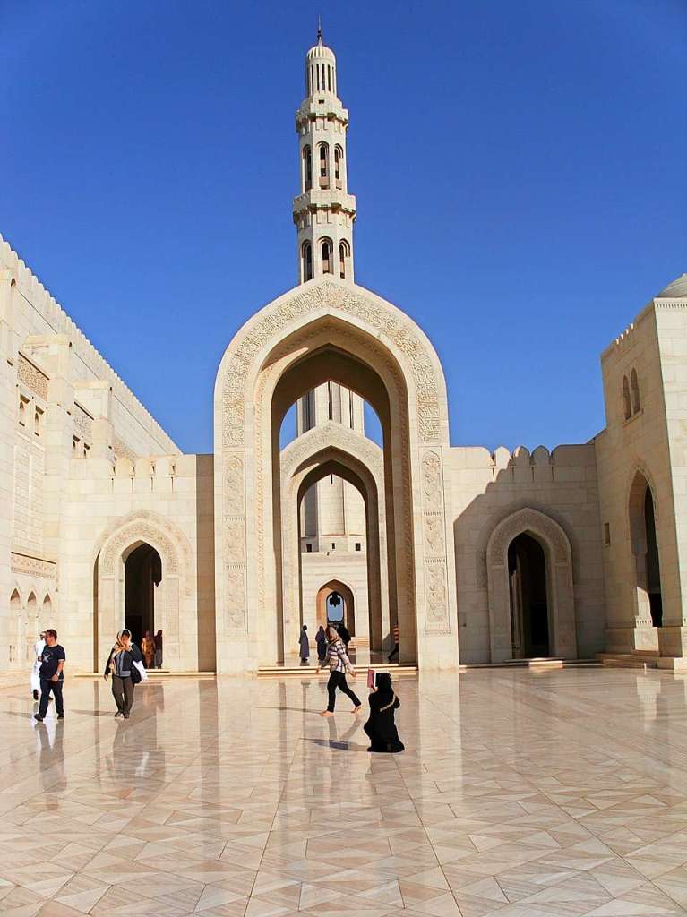
M681 677L401 679L398 757L324 691L155 681L124 722L71 679L60 724L0 691L0 914L687 914Z

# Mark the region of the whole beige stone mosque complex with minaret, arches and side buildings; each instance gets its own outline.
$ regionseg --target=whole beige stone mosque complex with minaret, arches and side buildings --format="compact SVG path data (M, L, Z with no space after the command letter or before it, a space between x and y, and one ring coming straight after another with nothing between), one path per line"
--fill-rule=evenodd
M401 663L428 670L687 665L687 274L604 350L590 442L451 446L432 342L354 280L348 126L320 34L299 283L227 334L214 455L176 447L0 240L0 683L50 625L72 672L124 624L161 628L172 671L257 672L327 620L371 658L397 625Z

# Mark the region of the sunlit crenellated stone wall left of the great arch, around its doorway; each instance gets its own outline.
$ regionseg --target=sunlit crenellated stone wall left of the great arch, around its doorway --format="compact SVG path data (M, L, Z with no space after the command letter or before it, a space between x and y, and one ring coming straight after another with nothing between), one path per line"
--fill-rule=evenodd
M115 469L72 458L60 566L69 609L61 629L75 668L105 665L124 625L123 558L139 542L162 558L155 628L164 632L165 668L215 668L213 474L212 456L157 456L135 467L125 458Z

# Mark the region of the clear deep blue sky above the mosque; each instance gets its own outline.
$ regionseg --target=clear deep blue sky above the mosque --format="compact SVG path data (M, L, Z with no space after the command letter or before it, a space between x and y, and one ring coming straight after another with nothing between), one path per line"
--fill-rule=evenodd
M294 285L294 112L338 56L356 279L443 360L453 444L579 442L599 354L687 270L685 0L0 0L0 231L152 414Z

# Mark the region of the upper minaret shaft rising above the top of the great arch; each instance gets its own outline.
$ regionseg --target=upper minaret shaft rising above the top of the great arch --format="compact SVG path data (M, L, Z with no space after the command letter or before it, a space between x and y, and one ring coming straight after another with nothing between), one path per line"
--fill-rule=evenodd
M337 95L337 59L322 42L305 55L305 99L296 112L301 193L294 198L298 280L333 274L353 280L356 201L348 193L349 113Z

